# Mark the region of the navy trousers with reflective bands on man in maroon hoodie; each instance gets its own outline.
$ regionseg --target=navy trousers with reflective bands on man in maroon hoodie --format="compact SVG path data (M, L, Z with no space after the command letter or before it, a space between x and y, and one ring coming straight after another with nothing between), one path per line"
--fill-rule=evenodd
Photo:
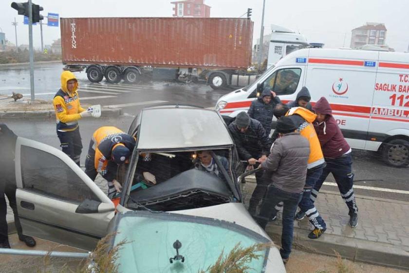
M311 200L315 202L322 183L324 183L327 176L332 173L339 192L344 199L349 209L349 215L357 214L358 207L355 202L355 195L353 193L353 173L352 173L352 156L351 153L337 158L325 158L327 166L322 171L316 185L311 193Z

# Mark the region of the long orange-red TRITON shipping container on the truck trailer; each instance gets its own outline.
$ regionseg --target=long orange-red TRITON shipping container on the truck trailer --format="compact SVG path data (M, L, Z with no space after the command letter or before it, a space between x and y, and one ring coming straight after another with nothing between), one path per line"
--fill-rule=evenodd
M66 64L246 69L253 22L239 18L61 18Z

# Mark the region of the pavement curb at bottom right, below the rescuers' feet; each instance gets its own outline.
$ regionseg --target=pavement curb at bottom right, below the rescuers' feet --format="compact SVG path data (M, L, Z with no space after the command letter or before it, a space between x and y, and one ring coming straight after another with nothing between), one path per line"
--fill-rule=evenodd
M281 241L281 225L268 225L267 234L275 242ZM398 269L409 269L409 253L393 245L325 234L319 239L309 239L310 231L294 228L294 248L315 253L336 256L335 252L353 262L363 262Z

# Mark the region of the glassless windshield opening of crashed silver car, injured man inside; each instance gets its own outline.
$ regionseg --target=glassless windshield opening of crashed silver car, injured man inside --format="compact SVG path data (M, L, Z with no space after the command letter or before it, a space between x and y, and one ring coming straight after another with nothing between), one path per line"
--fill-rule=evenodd
M140 152L128 207L176 211L231 202L231 165L228 149Z

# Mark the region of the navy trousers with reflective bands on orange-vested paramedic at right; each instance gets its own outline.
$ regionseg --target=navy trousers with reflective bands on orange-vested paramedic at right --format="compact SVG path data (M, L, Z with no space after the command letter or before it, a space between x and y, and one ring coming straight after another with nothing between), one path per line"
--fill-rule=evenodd
M324 219L319 215L313 200L311 200L311 193L316 185L316 182L322 175L322 170L324 169L325 164L321 168L316 168L314 170L307 171L307 178L305 179L305 186L302 191L302 198L298 204L298 207L301 212L305 213L310 220L310 223L316 229L325 230L327 225L324 222Z

